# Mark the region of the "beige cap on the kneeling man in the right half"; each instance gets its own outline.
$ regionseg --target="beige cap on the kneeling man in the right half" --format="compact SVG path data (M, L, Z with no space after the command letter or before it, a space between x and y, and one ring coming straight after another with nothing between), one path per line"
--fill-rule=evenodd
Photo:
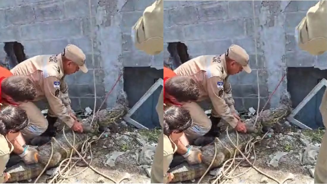
M252 70L249 66L249 55L242 47L231 45L227 50L226 56L242 65L244 71L251 73Z

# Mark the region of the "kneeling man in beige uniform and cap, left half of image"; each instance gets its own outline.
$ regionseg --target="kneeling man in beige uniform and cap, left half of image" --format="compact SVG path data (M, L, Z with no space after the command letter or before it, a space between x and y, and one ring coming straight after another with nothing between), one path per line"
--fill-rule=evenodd
M28 76L37 88L34 101L46 99L49 103L48 116L45 119L40 109L33 103L21 103L19 107L26 111L29 125L22 131L26 141L41 135L49 126L53 126L57 117L74 131L82 132L83 128L73 114L68 97L68 86L65 75L70 75L85 66L85 54L75 45L67 45L63 52L56 55L38 55L29 58L13 69L14 75Z

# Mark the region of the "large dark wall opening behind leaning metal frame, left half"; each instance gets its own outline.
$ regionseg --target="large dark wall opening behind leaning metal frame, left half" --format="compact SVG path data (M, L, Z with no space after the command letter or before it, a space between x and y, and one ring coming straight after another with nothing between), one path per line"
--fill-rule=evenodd
M124 91L127 94L128 106L132 108L146 91L159 79L163 79L163 69L157 70L150 67L125 67L124 68ZM156 105L161 93L159 86L154 93L138 108L131 116L147 128L159 127L159 117Z

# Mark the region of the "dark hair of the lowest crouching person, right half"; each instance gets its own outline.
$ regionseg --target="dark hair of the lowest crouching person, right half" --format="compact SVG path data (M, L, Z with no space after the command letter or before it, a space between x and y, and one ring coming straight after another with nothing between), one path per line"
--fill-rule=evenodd
M170 135L173 131L182 132L192 126L188 110L179 106L171 106L163 112L163 134Z

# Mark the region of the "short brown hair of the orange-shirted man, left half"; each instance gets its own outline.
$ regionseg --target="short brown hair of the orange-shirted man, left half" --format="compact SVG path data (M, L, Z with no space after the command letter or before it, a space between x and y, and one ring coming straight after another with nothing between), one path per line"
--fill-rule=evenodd
M1 82L1 91L14 101L32 101L36 97L36 87L27 76L10 76Z

